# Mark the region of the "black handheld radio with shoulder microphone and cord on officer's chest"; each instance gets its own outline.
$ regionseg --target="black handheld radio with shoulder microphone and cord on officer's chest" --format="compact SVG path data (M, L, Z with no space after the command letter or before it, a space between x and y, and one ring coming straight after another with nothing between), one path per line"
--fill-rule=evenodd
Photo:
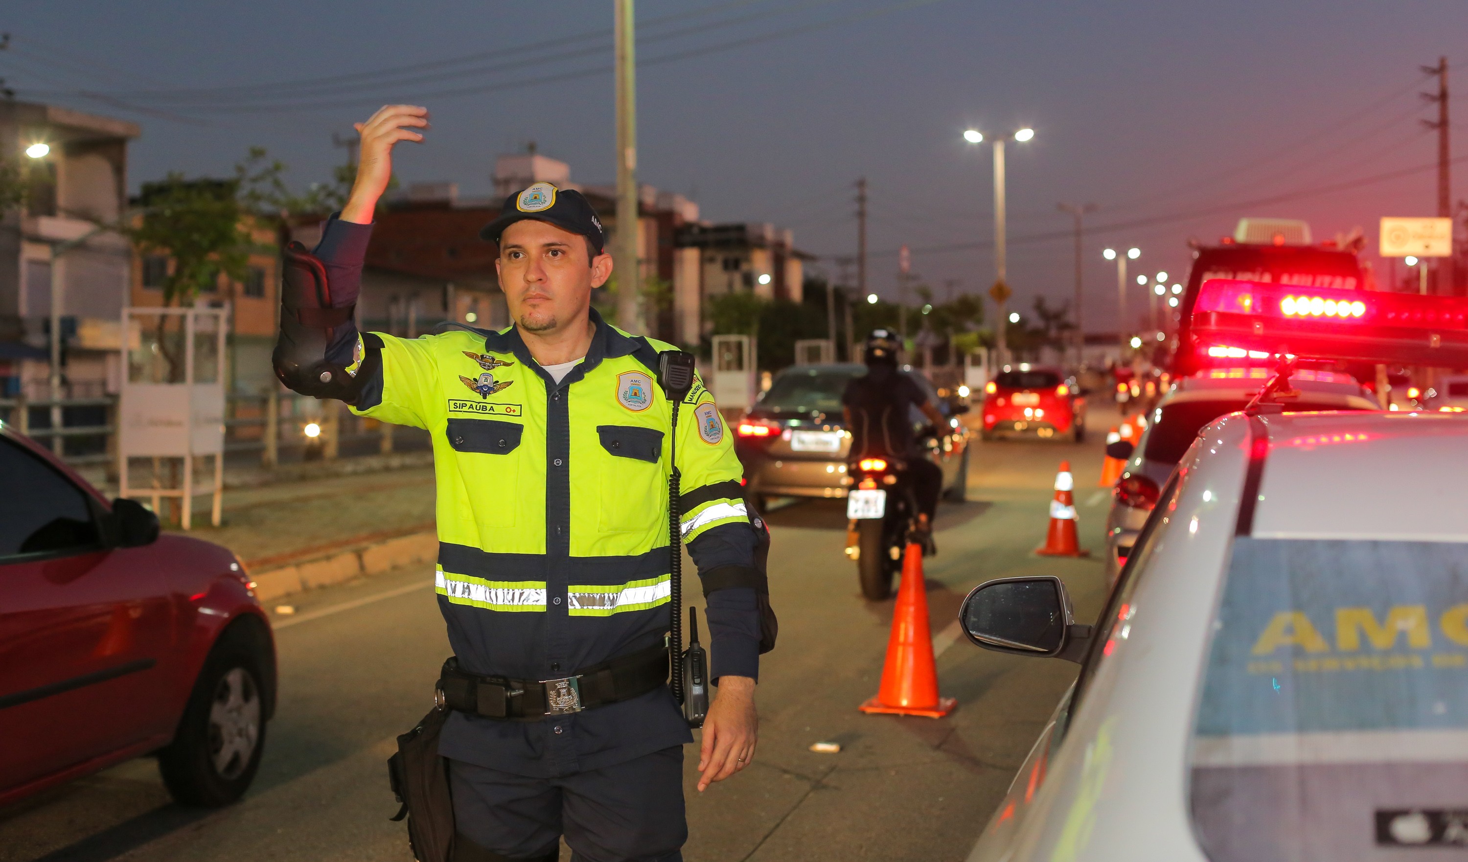
M678 507L680 480L678 473L678 407L693 389L693 354L681 349L668 349L658 354L658 385L672 405L672 433L668 435L668 460L672 470L668 473L668 564L669 564L669 615L668 643L669 659L672 661L671 686L672 696L683 705L683 717L688 727L703 727L703 717L709 711L708 695L708 653L697 643L697 634L688 651L683 651L683 513ZM688 608L691 612L693 608ZM691 617L690 617L691 620ZM690 676L690 668L697 662L696 674ZM690 680L697 680L697 689ZM694 693L697 692L697 693Z

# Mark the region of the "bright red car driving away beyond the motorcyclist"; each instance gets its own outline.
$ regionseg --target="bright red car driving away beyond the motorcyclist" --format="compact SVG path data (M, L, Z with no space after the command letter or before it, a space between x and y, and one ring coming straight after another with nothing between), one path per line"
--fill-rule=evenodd
M1075 377L1060 369L1020 364L1004 366L984 386L984 432L986 441L1000 435L1070 436L1086 435L1086 402Z

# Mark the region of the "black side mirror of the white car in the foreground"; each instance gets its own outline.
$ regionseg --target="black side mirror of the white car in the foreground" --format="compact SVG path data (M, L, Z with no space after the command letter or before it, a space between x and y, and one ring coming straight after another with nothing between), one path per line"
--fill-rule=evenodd
M1076 626L1066 584L1054 576L1001 577L973 587L959 624L984 649L1080 662L1091 626Z

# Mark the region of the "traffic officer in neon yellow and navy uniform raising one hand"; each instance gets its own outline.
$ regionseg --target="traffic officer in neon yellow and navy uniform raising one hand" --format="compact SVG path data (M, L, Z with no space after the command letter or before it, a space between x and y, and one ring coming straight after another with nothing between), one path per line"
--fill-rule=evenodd
M298 256L323 267L327 307L294 308L299 298L285 297L276 373L433 436L437 601L464 681L455 690L477 693L451 699L439 745L457 858L549 862L564 836L574 859L681 859L681 746L693 737L666 686L671 405L656 380L656 354L671 345L592 308L612 273L602 225L580 192L546 182L511 194L482 232L499 244L512 326L360 333L351 308L392 148L423 141L427 125L413 106L357 125L351 198L326 223L320 264ZM313 342L323 326L329 335ZM743 586L755 533L728 429L702 383L684 399L675 442L681 530L705 586L718 681L702 792L755 753L759 611Z

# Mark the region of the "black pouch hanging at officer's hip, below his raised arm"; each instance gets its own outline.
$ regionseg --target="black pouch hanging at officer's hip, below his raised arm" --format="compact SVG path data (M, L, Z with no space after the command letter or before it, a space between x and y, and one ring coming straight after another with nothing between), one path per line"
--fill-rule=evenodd
M408 844L418 862L454 858L454 797L448 758L439 756L439 734L449 711L435 706L413 730L398 737L388 758L392 793L402 803L393 821L408 818Z

